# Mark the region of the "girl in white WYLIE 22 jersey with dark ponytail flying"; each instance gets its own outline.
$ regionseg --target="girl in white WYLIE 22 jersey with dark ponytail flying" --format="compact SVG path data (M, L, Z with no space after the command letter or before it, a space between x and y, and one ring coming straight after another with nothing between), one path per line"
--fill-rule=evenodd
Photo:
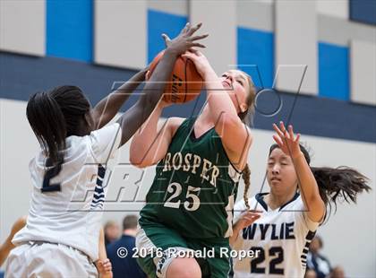
M267 165L270 192L235 204L232 246L255 252L234 261L235 277L303 277L310 242L329 218L331 205L337 208L339 198L355 203L359 193L371 189L355 169L310 167L310 155L293 126L286 130L281 122L273 127L277 134Z

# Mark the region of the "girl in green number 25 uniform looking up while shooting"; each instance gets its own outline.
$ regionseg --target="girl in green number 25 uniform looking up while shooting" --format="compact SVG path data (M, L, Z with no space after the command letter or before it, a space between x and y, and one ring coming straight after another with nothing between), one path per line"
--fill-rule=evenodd
M242 71L229 70L218 77L200 52L184 56L204 80L207 103L201 114L170 117L158 126L167 106L161 102L132 139L132 164L158 163L136 237L136 247L150 254L140 257L139 264L150 277L227 277L229 258L220 250L229 249L242 171L249 175L246 158L252 135L244 121L252 116L255 90L251 77ZM205 249L215 250L215 256L189 255ZM163 256L156 255L158 250Z

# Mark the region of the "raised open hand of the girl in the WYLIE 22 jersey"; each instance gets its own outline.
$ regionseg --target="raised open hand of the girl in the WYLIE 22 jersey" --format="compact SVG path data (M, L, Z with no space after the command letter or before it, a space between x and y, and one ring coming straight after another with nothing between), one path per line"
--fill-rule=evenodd
M279 127L273 124L273 128L277 132L277 135L273 135L273 139L278 143L282 152L291 158L298 157L301 153L299 145L300 134L297 134L295 137L293 126L289 125L287 131L282 121L279 122Z

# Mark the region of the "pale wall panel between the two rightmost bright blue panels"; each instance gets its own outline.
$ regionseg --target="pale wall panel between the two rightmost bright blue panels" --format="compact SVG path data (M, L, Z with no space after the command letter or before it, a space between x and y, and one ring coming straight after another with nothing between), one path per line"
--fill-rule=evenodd
M278 90L317 94L317 24L314 1L277 1L275 32L275 66ZM282 68L283 67L283 70Z

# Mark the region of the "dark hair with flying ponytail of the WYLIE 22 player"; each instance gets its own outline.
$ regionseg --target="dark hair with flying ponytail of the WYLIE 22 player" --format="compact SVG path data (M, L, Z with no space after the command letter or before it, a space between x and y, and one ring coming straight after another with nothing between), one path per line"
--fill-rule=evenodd
M277 148L279 148L277 143L272 144L269 155ZM303 152L305 161L309 165L311 163L309 152L302 144L300 144L300 150ZM334 204L335 211L337 211L337 201L339 198L341 198L341 201L345 200L347 203L351 201L356 204L356 196L359 193L371 190L371 187L367 185L369 179L355 169L346 166L338 168L310 167L319 187L320 197L327 208L323 222L329 219L332 204Z

